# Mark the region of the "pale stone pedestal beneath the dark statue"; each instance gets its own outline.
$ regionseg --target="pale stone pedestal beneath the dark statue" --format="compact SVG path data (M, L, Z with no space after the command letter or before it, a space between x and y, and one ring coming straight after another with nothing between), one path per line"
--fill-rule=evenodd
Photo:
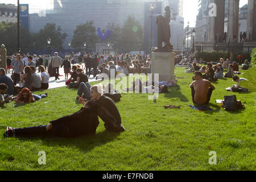
M159 74L159 81L175 81L174 52L151 52L151 73Z

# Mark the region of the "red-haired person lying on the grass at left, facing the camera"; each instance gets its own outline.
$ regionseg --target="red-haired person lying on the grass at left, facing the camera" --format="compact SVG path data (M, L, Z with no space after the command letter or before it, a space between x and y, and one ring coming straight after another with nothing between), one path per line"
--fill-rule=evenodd
M35 95L32 94L30 89L28 88L23 88L22 90L20 90L18 96L13 97L13 100L16 103L20 103L20 104L30 104L31 102L35 102L40 100L41 98L45 98L47 97L48 94L40 94L40 95Z

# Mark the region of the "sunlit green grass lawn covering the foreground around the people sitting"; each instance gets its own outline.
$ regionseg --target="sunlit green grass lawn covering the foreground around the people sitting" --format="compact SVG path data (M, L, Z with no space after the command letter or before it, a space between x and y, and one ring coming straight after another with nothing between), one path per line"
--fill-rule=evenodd
M176 77L187 78L156 103L148 94L122 94L117 107L126 131L120 134L106 132L100 119L96 135L89 137L3 138L6 126L46 125L79 110L76 89L51 89L32 104L0 107L0 170L255 170L255 92L227 92L232 78L218 80L209 104L213 110L199 112L187 106L193 75L184 70L175 68ZM232 94L245 110L228 112L215 103ZM164 109L168 104L181 109ZM38 164L39 151L46 152L46 165ZM216 151L216 165L208 162L210 151Z

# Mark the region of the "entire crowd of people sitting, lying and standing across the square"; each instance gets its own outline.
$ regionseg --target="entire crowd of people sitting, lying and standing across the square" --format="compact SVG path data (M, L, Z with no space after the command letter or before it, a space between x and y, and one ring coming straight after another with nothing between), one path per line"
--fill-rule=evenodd
M110 72L114 72L115 76L118 73L123 73L124 75L150 73L151 67L149 55L142 56L138 54L131 56L128 53L114 56L87 54L82 59L85 68L83 65L76 64L76 61L71 60L73 59L72 55L67 55L64 59L61 59L57 52L49 59L48 56L43 56L42 58L41 56L36 57L36 55L25 55L22 59L19 53L13 57L15 57L15 60L8 60L8 63L11 63L11 67L7 64L7 72L10 72L10 69L13 68L11 78L6 75L5 69L0 68L0 105L12 100L16 103L29 104L47 97L47 93L36 95L32 94L32 92L48 89L51 74L47 72L47 68L49 72L53 72L52 75L57 80L59 79L59 68L63 67L66 84L75 85L73 88L78 88L77 100L84 107L72 115L51 121L48 125L20 129L7 127L5 137L77 137L82 134L92 134L96 132L99 123L97 115L105 122L106 130L125 131L121 125L121 117L114 101L106 96L106 93L119 93L118 90L115 90L114 85L110 83L105 88L101 88L101 85L91 86L88 77L90 75L96 77L102 73L109 77ZM177 63L177 60L180 62ZM190 85L194 104L204 105L209 103L212 92L215 89L211 82L216 81L218 78L231 77L238 84L233 85L230 90L233 92L247 92L247 89L239 85L240 81L246 79L235 76L240 73L238 64L236 62L230 63L229 59L221 58L217 62L205 63L203 59L197 61L196 57L176 55L175 62L177 65L187 66L188 69L185 72L194 73L194 81ZM37 67L40 75L36 72ZM242 68L249 69L250 62L245 60ZM227 69L226 73L224 73L225 69ZM70 78L68 78L69 75L71 75ZM16 84L19 85L16 86ZM131 88L125 90L127 92L138 91L139 93L168 93L168 86L174 86L175 84L175 81L165 81L159 82L157 84L159 86L155 87L155 83L148 85L147 82L142 83L138 78L133 82ZM18 96L13 97L15 92Z

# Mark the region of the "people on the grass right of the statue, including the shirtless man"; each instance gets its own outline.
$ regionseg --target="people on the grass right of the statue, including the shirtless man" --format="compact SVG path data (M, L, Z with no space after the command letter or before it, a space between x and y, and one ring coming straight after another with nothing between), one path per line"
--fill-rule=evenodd
M239 59L239 57L238 57ZM194 73L192 77L193 82L190 85L192 101L194 104L208 104L210 101L210 96L212 95L215 87L211 82L215 82L219 79L233 78L237 85L226 88L233 92L247 92L247 88L242 88L239 82L246 80L246 78L240 78L237 75L241 75L239 72L239 65L236 61L230 61L229 59L220 58L218 61L213 61L210 63L205 62L202 58L199 61L193 56L175 56L176 65L184 65L187 67L186 73ZM248 60L244 61L242 64L242 69L249 69L250 62ZM226 73L224 73L226 72Z

